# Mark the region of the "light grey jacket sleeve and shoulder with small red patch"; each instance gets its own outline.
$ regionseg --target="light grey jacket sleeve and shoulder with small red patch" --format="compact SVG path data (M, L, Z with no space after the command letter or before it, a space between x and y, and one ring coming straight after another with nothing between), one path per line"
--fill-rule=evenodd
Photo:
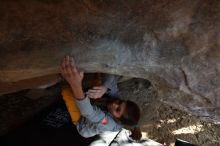
M104 113L97 106L92 106L87 96L83 100L77 100L76 103L82 115L77 124L77 130L81 136L91 137L104 131L119 131L122 128L111 114Z

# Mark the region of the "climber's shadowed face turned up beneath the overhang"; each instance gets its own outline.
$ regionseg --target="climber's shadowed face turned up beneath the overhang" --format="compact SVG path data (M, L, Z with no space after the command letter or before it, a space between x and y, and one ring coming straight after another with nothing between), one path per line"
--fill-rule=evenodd
M125 112L126 102L120 99L115 99L109 103L107 107L113 117L119 119Z

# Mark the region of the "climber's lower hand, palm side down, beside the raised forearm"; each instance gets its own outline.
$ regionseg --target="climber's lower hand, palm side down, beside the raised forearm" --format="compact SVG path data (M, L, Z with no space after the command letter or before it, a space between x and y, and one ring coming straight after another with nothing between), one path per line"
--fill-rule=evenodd
M88 91L89 97L93 99L101 98L107 92L105 86L94 86Z

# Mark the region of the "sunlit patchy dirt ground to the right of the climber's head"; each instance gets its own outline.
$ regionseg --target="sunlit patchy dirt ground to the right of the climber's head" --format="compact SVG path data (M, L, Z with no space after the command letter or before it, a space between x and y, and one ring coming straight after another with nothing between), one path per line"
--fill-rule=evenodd
M220 125L201 121L157 98L150 82L131 79L119 84L121 96L137 102L142 111L141 129L147 137L166 146L182 139L199 146L220 146Z

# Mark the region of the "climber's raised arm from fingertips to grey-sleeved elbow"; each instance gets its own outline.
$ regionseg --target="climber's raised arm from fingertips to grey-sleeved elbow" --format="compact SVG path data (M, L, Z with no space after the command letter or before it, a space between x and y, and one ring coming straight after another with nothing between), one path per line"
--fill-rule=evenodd
M72 88L80 113L92 122L100 122L105 117L105 114L99 109L96 110L91 105L89 98L84 95L82 90L83 74L77 70L73 59L69 56L65 57L60 70L62 76Z

